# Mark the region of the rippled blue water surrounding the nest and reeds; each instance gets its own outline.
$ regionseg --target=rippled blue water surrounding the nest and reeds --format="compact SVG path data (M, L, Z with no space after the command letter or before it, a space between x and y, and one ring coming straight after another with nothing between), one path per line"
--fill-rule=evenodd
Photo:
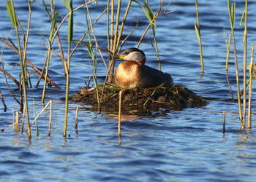
M4 1L0 4L0 36L8 36L11 28ZM127 1L124 1L125 3ZM166 1L165 1L166 2ZM76 1L78 7L83 1ZM225 39L228 37L229 19L226 1L199 1L201 36L206 74L200 75L198 42L194 30L194 1L171 1L170 10L175 12L157 19L157 39L162 70L172 74L176 84L183 84L198 95L211 98L203 108L187 108L183 111L166 111L152 116L125 116L121 124L121 143L117 135L116 113L102 113L82 103L69 106L69 136L62 137L64 122L64 76L61 60L53 55L50 77L61 87L47 90L46 100L53 100L53 130L48 138L48 112L39 119L39 135L35 128L32 140L26 134L15 133L12 128L1 132L0 179L1 181L255 181L256 138L252 133L239 132L238 106L230 100L225 76ZM157 1L150 1L154 10ZM165 3L166 4L166 3ZM255 41L255 2L249 1L248 42ZM27 4L16 2L18 17L26 23ZM50 23L41 1L32 4L32 28L29 39L28 58L42 67L46 52L38 41L47 42L38 35L47 36ZM67 10L62 1L56 1L56 9L63 15ZM105 9L105 1L98 1L91 10L95 18ZM244 3L236 1L236 40L238 61L243 58L243 27L238 25ZM132 6L125 33L140 22L138 29L126 42L124 48L135 47L145 30L148 20L138 5ZM105 19L95 25L100 47L107 47ZM67 25L61 28L62 39L66 39ZM75 37L86 30L85 12L75 12ZM15 33L12 32L12 39ZM67 44L64 42L64 50ZM157 68L157 59L148 39L140 49L146 52L147 64ZM55 50L58 50L55 47ZM250 50L250 46L248 47ZM248 53L250 55L250 53ZM233 55L230 55L230 83L236 94L236 76ZM108 55L105 54L105 58ZM248 56L249 58L249 56ZM99 59L100 61L100 59ZM4 50L4 66L10 74L17 76L20 69L9 63L19 63L18 56L9 48ZM71 93L85 86L92 66L85 47L80 47L72 57ZM240 73L242 68L240 67ZM7 112L0 104L0 127L12 123L12 113L18 104L7 90L4 76L0 73L0 90L7 103ZM98 76L105 76L105 67L100 61ZM18 77L16 77L18 79ZM15 84L10 86L14 89ZM33 78L32 83L36 84ZM255 92L255 87L254 87ZM29 111L31 119L34 109L38 114L42 108L39 88L29 89ZM253 94L255 98L255 94ZM78 134L73 130L75 108L80 106ZM226 133L222 134L222 112L226 111ZM255 100L253 100L255 118ZM255 123L252 123L253 126Z

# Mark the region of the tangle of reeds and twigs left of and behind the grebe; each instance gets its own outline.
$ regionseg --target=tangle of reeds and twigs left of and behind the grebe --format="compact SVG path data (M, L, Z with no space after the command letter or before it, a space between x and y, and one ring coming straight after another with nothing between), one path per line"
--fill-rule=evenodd
M148 32L148 28L151 27L153 37L154 37L154 43L151 41L151 45L152 45L152 47L154 47L154 51L156 52L158 62L159 62L159 52L158 52L158 48L157 48L157 39L156 39L156 27L157 27L156 19L159 16L167 15L170 13L170 12L167 12L167 10L166 10L167 8L165 8L165 10L162 11L161 1L159 1L159 7L155 13L152 11L150 5L148 4L148 1L143 1L143 4L141 4L140 1L133 1L133 0L130 0L127 3L124 3L121 0L108 1L106 4L107 8L102 12L102 15L107 13L106 29L107 29L107 36L108 36L108 49L102 49L99 47L99 44L97 43L96 33L94 32L94 24L97 23L97 20L99 20L99 18L101 18L102 15L99 15L97 20L95 20L94 23L92 23L91 16L90 16L90 7L89 7L89 4L91 4L93 2L96 5L97 1L85 1L85 3L80 5L79 7L73 8L72 0L71 1L64 0L64 4L67 7L68 13L65 17L62 17L58 12L55 12L55 5L53 4L53 1L51 1L51 0L49 1L49 6L50 6L50 11L49 11L48 5L45 4L45 1L43 0L42 4L45 7L45 11L48 14L51 26L50 26L50 30L49 30L49 37L47 39L48 46L44 45L48 49L48 52L47 52L47 55L45 58L45 64L42 67L42 69L39 69L39 68L37 68L37 66L34 66L34 64L32 64L31 61L29 61L26 58L26 47L27 47L27 43L28 43L28 39L29 39L29 30L30 30L31 16L32 16L32 14L31 14L32 2L33 1L29 1L29 20L28 20L26 39L24 41L23 50L20 47L20 37L19 37L19 32L18 32L18 26L20 26L20 28L22 30L22 25L19 23L18 18L15 15L13 1L7 1L7 9L10 14L10 20L12 21L12 25L16 30L18 48L16 47L16 45L14 43L12 43L12 41L10 41L10 39L7 39L7 41L4 39L1 39L1 41L4 41L4 44L11 47L13 50L15 50L15 52L18 52L18 55L20 56L20 68L22 71L21 80L22 80L22 87L23 87L23 91L21 92L21 90L20 90L20 93L22 93L22 95L20 96L20 106L23 109L23 114L26 113L26 120L28 122L29 138L31 138L31 131L30 131L31 124L29 124L29 106L27 106L27 95L26 95L27 85L29 85L26 76L29 75L29 73L26 70L26 63L29 63L29 65L32 68L34 68L34 70L37 71L37 73L39 74L39 79L36 84L36 87L38 87L41 79L45 79L44 84L43 84L43 89L42 89L42 105L44 105L45 95L47 94L46 93L47 83L53 84L56 88L60 88L48 76L51 55L56 54L56 52L53 51L53 43L56 41L56 38L57 38L57 43L58 43L59 52L60 52L59 57L62 60L62 64L63 64L63 68L64 68L64 75L65 75L65 79L66 79L64 134L63 134L64 136L67 135L67 119L68 119L68 106L69 106L69 76L70 76L69 71L70 71L70 63L72 62L72 60L71 60L72 54L75 52L75 50L77 49L77 47L79 45L81 45L81 44L86 45L89 55L91 57L93 66L94 66L93 72L92 72L93 73L92 78L94 80L94 85L96 86L97 103L98 103L99 107L101 107L102 103L105 102L105 100L102 99L104 92L105 92L105 84L106 84L107 80L108 80L108 82L112 82L112 80L113 80L113 71L114 71L113 69L114 69L116 60L113 59L112 55L118 54L118 52L121 50L121 47L124 45L125 40L129 37L129 35L138 26L138 25L136 25L135 28L129 33L129 35L124 40L121 40L121 36L123 35L123 32L124 32L124 26L125 26L127 17L129 15L129 8L131 7L132 3L139 4L141 9L143 10L146 17L149 20L148 26L146 27L146 30L144 31L143 36L141 36L138 46L139 46L140 42L142 41L142 39L144 38L145 34ZM122 12L121 7L124 7L124 4L125 4L126 8L125 8L125 11ZM84 35L81 37L81 39L79 41L75 41L72 39L73 14L76 10L81 9L82 7L85 7L87 31L84 33ZM123 15L123 17L121 17L122 15ZM61 23L57 23L57 19L59 17L62 17ZM120 23L121 18L122 18L122 21ZM67 42L67 60L65 60L64 52L62 50L63 41L61 42L61 39L59 36L59 30L61 29L61 26L67 20L68 20L67 40L65 41L65 43ZM83 39L86 35L88 35L89 43L86 41L83 41ZM39 34L39 36L43 36L43 35ZM43 36L43 37L45 38L45 36ZM92 40L92 37L94 40ZM74 41L77 44L75 45L75 47L72 50L71 44ZM11 42L11 44L10 44L10 42ZM108 66L105 63L105 60L103 58L101 50L107 50L109 52L109 55L112 56L112 58L109 59ZM98 64L97 63L97 52L99 52L99 55L101 55L102 61L105 63L105 67L107 68L107 74L106 74L107 76L105 79L105 83L103 84L103 89L100 90L101 95L99 95L99 91L97 91L97 85L98 85L98 83L97 83L97 64ZM58 55L58 53L57 53L57 55ZM159 69L161 69L160 63L159 63ZM4 70L4 67L1 68L1 71L3 71L4 74L9 76L10 78L14 78L12 75L10 75L7 71ZM16 82L18 87L20 87L20 83L18 81L16 81L15 79L12 79L12 80L13 80L13 82ZM23 106L23 98L24 98L24 103L25 103L24 106Z

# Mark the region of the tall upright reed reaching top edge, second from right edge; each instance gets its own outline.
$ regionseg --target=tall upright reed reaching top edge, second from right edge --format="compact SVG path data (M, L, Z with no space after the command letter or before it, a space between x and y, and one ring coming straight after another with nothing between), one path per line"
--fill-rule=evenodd
M247 10L248 10L248 0L245 0L245 10L244 10L244 92L243 92L244 115L243 115L242 128L245 127L245 123L246 123Z

